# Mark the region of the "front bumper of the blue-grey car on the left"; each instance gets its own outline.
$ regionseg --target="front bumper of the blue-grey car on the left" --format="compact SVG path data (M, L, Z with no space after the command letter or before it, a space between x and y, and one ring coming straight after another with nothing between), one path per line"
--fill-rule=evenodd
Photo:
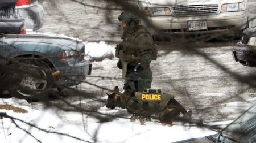
M59 79L60 84L65 86L74 86L82 83L86 75L90 75L92 72L92 63L82 60L80 62L67 62L63 63L60 68L61 78Z

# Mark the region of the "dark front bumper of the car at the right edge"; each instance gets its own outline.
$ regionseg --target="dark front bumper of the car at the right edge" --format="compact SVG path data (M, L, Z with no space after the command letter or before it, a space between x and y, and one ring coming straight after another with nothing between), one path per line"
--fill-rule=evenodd
M256 47L236 47L232 50L233 59L244 66L256 67Z

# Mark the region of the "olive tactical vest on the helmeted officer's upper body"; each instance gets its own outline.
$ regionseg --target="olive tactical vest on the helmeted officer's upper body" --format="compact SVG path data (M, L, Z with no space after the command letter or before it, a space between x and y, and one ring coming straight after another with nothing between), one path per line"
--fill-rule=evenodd
M148 46L138 46L137 44L135 44L135 39L143 33L147 33L150 36L150 41L152 44L153 41L151 34L146 31L146 28L144 28L143 26L139 26L137 29L135 29L135 31L125 33L123 35L122 43L119 44L119 46L117 46L115 49L115 57L136 64L141 60L141 51L151 49L153 54L153 60L156 60L157 50L153 44Z

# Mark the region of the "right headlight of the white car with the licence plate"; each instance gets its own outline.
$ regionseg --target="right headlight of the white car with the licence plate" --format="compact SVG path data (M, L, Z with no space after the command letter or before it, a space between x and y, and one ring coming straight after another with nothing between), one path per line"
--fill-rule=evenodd
M246 10L246 1L240 3L227 3L221 6L221 12L243 11Z

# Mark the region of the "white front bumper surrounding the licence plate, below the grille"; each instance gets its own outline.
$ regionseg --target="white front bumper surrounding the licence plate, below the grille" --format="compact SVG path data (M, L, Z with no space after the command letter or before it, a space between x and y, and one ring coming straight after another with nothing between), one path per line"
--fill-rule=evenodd
M204 34L230 32L244 29L247 23L247 11L221 12L217 15L206 16L155 16L150 18L151 22L162 32L170 34ZM189 31L188 21L207 21L207 30ZM148 29L152 35L157 33Z

